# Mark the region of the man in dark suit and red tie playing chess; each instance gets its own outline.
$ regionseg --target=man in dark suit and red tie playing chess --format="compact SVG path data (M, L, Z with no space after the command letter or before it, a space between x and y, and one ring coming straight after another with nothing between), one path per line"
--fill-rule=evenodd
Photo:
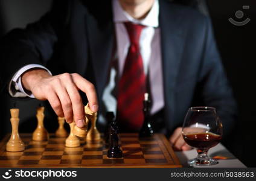
M188 107L216 107L225 135L232 130L236 105L210 20L169 1L56 1L4 37L1 60L11 96L48 100L80 127L88 100L94 112L115 112L121 130L138 131L149 92L154 127L177 150L190 149L181 135Z

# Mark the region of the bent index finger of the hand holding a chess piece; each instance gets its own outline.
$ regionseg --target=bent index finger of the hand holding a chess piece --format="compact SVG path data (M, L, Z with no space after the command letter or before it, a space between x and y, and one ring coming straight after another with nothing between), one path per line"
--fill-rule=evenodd
M71 74L73 81L75 85L78 87L78 89L85 92L86 97L88 98L89 107L93 112L98 111L98 99L97 99L97 93L94 87L94 84L92 84L90 81L86 80L79 74Z

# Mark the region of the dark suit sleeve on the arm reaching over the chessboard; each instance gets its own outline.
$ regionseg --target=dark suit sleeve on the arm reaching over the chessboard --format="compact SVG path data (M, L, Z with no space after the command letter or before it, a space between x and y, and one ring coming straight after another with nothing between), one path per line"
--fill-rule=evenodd
M53 8L39 21L27 25L25 29L14 29L2 38L1 89L7 88L11 77L22 67L30 64L45 66L51 59L54 46L61 36L60 30L67 24L68 2L56 1Z

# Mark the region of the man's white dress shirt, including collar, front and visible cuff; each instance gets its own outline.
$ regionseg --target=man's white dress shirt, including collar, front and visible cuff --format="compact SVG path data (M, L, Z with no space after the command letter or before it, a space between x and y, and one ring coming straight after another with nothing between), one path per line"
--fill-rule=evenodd
M159 16L159 2L155 0L153 7L142 20L133 19L126 11L121 8L118 0L112 1L115 33L117 39L117 54L115 57L118 61L118 70L113 66L109 72L109 81L103 91L103 103L105 104L107 111L116 113L117 110L117 98L112 95L115 85L117 84L116 76L121 76L126 60L127 52L130 46L129 36L123 22L130 21L135 24L145 25L141 32L139 39L141 57L144 65L144 72L150 77L150 92L152 93L152 110L151 113L156 113L158 110L164 107L164 90L163 90L163 78L162 78L162 62L161 62L161 43L160 43L160 31L158 25ZM28 94L24 91L21 84L21 75L31 68L43 68L41 65L27 65L21 68L12 78L9 92L13 97L31 97L33 94ZM50 72L48 69L46 71ZM118 72L117 72L118 71ZM51 74L51 72L50 72ZM14 86L14 89L11 88Z

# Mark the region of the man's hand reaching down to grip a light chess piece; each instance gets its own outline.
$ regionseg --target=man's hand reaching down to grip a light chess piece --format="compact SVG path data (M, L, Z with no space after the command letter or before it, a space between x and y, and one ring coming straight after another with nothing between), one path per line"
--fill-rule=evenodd
M51 76L44 69L32 69L22 75L22 84L38 100L48 100L58 116L65 116L67 122L73 119L78 127L85 124L82 98L78 90L85 92L89 107L98 111L97 94L94 85L78 74Z

